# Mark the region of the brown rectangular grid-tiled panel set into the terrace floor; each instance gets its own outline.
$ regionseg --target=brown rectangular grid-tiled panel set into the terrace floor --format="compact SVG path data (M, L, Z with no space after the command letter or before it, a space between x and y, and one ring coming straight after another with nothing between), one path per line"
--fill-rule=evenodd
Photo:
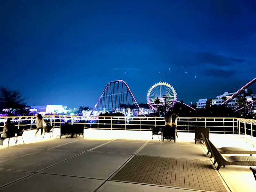
M181 158L134 156L111 180L227 191L210 161Z

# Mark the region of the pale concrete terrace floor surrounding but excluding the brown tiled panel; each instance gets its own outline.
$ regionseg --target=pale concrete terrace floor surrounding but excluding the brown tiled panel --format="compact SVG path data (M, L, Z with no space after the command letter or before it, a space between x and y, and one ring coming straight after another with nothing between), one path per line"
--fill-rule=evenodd
M84 138L43 140L35 130L24 132L18 144L4 140L0 146L0 191L197 191L188 188L111 181L134 155L195 159L212 162L204 144L195 144L194 134L179 133L176 143L151 132L85 130ZM250 146L234 135L210 134L216 147ZM224 142L225 141L225 142ZM247 143L245 141L248 141ZM217 171L216 171L217 172ZM256 181L248 166L226 166L217 172L227 191L254 191Z

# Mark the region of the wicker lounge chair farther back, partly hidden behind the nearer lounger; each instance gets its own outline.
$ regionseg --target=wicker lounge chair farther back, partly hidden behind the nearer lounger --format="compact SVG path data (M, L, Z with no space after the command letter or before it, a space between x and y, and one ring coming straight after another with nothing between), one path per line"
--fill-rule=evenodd
M209 149L208 143L205 141L206 136L202 132L201 132L201 135L202 135L205 145L207 147L207 150L208 150L207 155L208 155L209 152L211 152L211 151ZM250 154L250 156L252 156L252 154L256 154L256 148L222 147L222 148L217 148L217 149L221 154ZM212 158L212 153L211 153L210 158Z

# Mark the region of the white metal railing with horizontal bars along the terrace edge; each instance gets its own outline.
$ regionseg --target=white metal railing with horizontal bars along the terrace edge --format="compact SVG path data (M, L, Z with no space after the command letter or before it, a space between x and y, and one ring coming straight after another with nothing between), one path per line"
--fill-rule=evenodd
M36 116L0 117L0 128L4 127L7 118L17 127L26 126L25 130L36 129ZM164 117L120 117L97 116L44 116L46 124L60 128L62 124L77 124L85 129L137 130L151 131L153 126L164 126ZM194 132L195 127L210 128L210 133L239 134L256 137L256 120L224 117L179 117L179 132ZM0 130L1 131L1 130Z

